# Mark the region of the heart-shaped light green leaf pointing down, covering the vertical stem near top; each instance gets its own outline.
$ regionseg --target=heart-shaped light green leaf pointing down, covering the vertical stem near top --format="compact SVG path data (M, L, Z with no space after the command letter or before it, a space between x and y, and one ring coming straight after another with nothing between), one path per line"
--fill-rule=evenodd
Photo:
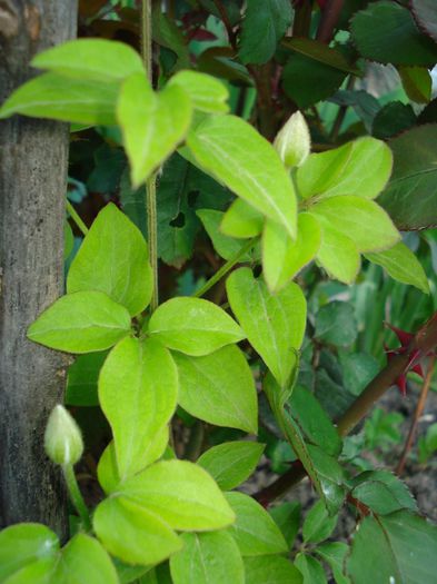
M177 86L155 93L147 77L137 73L121 88L117 116L131 181L138 187L183 140L191 121L191 100Z

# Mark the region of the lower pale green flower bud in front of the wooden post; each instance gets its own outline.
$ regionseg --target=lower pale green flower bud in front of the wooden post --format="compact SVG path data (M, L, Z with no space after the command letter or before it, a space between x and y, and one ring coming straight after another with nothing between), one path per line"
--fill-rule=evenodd
M48 457L56 464L76 464L83 453L79 426L67 409L57 405L51 410L44 434Z

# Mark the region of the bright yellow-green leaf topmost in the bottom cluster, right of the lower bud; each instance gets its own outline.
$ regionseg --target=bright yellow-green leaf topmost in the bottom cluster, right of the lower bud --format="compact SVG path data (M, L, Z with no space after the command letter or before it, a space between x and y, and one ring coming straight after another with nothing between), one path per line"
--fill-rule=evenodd
M161 461L120 485L118 493L179 531L230 525L232 509L211 476L187 461Z

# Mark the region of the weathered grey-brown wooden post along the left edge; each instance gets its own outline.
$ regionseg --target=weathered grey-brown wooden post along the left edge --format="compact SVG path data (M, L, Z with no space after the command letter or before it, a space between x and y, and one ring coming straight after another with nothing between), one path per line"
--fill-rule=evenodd
M76 18L76 0L0 0L0 102L36 73L37 52L75 34ZM0 525L42 522L61 538L66 494L43 433L66 356L26 331L63 289L67 166L67 125L0 121Z

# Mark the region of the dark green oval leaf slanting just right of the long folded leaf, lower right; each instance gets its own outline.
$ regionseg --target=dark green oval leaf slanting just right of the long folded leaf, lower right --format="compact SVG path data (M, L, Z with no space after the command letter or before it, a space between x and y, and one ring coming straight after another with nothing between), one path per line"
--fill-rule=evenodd
M297 385L289 399L289 406L292 417L310 442L328 454L340 454L341 438L312 392Z

